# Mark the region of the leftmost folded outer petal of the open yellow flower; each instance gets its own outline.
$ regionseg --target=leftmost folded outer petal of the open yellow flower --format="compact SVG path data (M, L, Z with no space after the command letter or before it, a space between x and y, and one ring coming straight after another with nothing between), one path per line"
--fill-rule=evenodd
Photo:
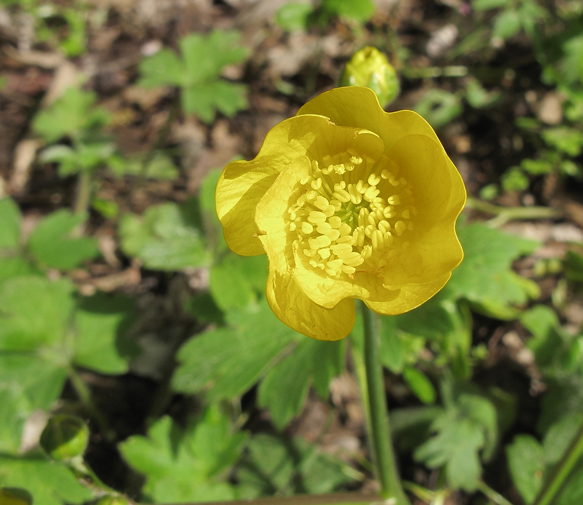
M224 168L215 192L216 212L232 251L244 256L264 252L253 224L257 203L278 174L305 155L314 143L315 132L326 124L328 119L317 115L282 121L269 131L255 159L232 162Z

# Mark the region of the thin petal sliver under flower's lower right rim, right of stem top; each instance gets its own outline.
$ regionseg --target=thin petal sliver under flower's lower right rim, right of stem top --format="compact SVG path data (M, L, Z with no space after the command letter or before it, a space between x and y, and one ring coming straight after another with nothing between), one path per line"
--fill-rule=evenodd
M448 272L427 284L406 286L394 291L387 290L387 299L364 300L364 303L379 314L403 314L429 300L445 286L450 277L451 272Z

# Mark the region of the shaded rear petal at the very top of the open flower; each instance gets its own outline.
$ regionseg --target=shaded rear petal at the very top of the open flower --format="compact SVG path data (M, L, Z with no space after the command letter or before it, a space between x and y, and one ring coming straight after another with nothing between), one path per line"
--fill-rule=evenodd
M300 114L321 114L339 126L373 131L384 142L385 152L410 134L427 135L439 142L433 128L419 114L411 110L385 112L368 87L336 87L308 101L298 110Z

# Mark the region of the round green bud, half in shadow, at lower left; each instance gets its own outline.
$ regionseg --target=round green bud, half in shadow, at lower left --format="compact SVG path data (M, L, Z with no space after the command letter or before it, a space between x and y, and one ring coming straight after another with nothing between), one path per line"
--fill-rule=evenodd
M41 447L58 461L83 455L88 441L89 428L83 419L66 414L52 416L40 436Z

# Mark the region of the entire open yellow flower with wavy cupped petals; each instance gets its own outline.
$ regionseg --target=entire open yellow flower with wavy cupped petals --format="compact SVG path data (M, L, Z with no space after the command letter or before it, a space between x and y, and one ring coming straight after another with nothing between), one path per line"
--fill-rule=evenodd
M353 298L394 315L436 294L463 258L455 220L465 200L430 125L385 113L366 87L308 101L216 188L231 250L268 255L273 312L321 340L349 334Z

